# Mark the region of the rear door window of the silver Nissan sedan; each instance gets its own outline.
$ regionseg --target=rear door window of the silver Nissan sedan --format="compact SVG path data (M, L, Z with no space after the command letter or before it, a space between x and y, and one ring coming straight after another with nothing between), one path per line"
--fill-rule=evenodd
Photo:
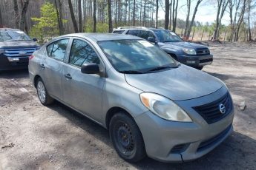
M53 42L53 44L50 44L47 46L46 48L47 55L50 58L54 58L59 61L64 61L67 46L68 46L68 39L55 41Z

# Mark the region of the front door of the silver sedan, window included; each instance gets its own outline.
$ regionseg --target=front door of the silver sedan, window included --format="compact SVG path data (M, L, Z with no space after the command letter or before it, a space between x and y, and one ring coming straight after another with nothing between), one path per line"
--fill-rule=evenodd
M81 66L84 63L96 63L101 70L105 70L105 66L93 46L82 38L73 38L69 53L68 64L65 64L62 73L64 100L74 109L102 123L105 78L83 74Z

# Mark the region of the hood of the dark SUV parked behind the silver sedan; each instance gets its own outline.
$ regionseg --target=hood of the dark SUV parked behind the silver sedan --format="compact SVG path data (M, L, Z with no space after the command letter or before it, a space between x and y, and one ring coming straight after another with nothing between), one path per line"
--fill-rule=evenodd
M204 45L200 44L194 44L191 42L186 41L177 41L177 42L166 42L166 43L159 43L160 47L176 47L176 48L191 48L191 49L202 49L202 48L208 48Z

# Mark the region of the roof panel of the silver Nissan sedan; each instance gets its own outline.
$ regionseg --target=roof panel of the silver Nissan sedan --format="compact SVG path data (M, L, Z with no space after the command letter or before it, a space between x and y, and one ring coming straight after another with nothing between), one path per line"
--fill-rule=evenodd
M68 35L62 35L59 38L65 37L80 37L90 38L92 41L109 41L109 40L120 40L120 39L142 39L133 35L122 35L114 33L73 33Z

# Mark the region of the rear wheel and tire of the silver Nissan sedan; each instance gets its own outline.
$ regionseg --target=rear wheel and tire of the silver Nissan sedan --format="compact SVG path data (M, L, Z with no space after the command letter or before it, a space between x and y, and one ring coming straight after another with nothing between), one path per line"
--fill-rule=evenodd
M36 91L37 96L39 97L39 101L42 103L42 105L49 105L53 103L54 99L50 97L50 95L47 92L47 89L45 88L45 84L42 81L42 78L38 78L36 81Z

